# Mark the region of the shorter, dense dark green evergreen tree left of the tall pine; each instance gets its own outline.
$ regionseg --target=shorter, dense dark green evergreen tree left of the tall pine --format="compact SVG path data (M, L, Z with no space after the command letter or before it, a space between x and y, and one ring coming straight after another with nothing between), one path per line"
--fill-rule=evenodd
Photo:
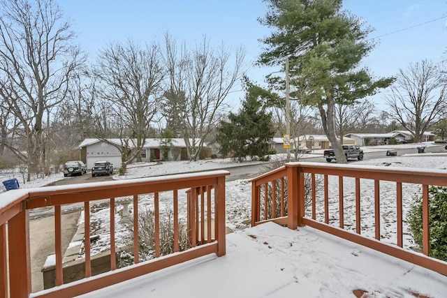
M230 113L228 121L222 120L217 129L219 152L242 161L247 156L268 161L269 143L273 137L272 114L266 112L262 99L268 91L247 84L247 94L237 114Z

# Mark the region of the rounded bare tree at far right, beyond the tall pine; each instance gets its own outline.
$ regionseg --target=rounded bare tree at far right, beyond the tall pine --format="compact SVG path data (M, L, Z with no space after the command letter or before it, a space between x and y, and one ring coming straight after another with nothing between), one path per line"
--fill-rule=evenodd
M426 59L399 70L386 102L395 119L413 134L414 142L446 112L444 65Z

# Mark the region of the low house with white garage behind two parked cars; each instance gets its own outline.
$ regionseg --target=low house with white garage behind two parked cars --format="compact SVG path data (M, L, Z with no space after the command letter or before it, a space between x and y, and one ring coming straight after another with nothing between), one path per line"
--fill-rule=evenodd
M186 144L182 138L171 139L172 147L168 152L168 161L184 161L188 159L186 151ZM115 145L114 145L115 144ZM108 139L108 142L99 140L97 138L85 139L79 144L81 161L83 161L88 168L93 167L96 161L110 161L113 167L119 168L122 165L122 156L118 147L122 146L120 139ZM160 161L163 159L161 139L150 138L146 139L144 147L141 149L142 161ZM133 144L130 145L131 150L135 150Z

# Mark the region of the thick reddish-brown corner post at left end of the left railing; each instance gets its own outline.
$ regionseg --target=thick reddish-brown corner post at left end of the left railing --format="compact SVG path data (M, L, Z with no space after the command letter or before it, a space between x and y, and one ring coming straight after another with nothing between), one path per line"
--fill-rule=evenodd
M8 221L10 297L31 293L31 256L29 251L29 211L24 209Z

